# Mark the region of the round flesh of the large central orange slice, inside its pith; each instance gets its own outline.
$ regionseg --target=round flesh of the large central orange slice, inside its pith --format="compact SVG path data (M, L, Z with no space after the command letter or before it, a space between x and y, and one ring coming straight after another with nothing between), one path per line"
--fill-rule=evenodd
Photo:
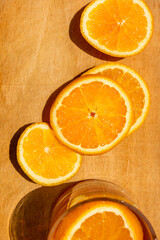
M127 108L114 88L102 82L82 84L57 110L63 136L83 148L96 148L117 138L126 123Z

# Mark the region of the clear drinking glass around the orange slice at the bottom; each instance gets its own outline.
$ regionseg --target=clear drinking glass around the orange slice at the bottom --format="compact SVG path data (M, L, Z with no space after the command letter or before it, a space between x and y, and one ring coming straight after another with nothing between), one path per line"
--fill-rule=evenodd
M79 182L72 188L69 188L59 198L52 212L50 232L47 240L53 239L58 224L64 216L72 211L72 209L75 209L77 206L86 202L97 200L114 201L127 206L132 212L134 212L141 222L144 233L143 239L157 240L151 223L143 213L137 209L136 205L128 197L125 191L121 187L103 180L85 180Z

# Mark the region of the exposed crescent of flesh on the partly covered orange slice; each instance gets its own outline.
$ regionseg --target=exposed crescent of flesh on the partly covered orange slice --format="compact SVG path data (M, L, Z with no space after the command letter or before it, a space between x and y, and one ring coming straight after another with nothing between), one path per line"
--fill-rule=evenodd
M145 103L145 95L143 89L141 88L138 80L134 78L130 73L124 73L123 70L114 68L114 69L106 69L102 72L98 72L103 76L109 77L115 81L117 81L128 93L132 101L134 119L133 124L137 121L137 119L141 116L142 110L144 108Z

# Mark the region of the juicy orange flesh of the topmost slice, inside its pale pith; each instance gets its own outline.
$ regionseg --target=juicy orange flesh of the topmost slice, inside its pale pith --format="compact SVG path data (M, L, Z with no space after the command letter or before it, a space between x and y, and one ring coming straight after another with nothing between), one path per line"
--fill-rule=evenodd
M147 33L144 10L133 0L106 0L88 17L89 36L113 51L133 51Z

